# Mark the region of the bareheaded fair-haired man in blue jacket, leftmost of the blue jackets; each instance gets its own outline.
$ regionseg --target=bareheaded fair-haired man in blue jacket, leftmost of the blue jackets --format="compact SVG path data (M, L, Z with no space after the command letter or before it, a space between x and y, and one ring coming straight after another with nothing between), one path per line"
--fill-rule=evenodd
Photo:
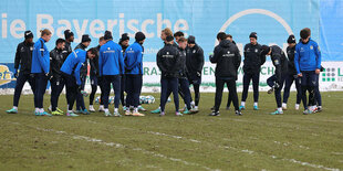
M34 74L35 89L34 89L34 115L35 116L51 116L43 108L43 97L45 94L48 81L50 75L50 55L45 45L51 39L51 32L48 29L41 31L41 38L34 43L32 52L31 73Z

